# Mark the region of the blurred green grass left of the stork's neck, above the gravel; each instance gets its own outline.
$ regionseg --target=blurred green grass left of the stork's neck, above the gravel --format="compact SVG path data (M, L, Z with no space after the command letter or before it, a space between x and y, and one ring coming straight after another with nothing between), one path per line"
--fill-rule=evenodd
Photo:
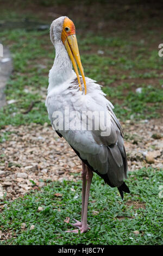
M46 32L26 32L23 29L5 31L1 35L2 41L12 41L11 52L14 60L14 73L10 77L5 93L7 100L14 99L15 103L0 110L0 126L12 124L21 125L48 122L45 107L46 88L48 86L48 69L42 69L41 59L47 58L47 51L43 50L44 40L41 36ZM52 61L51 61L52 63ZM29 89L26 92L24 89ZM43 88L45 88L43 90ZM43 90L42 94L40 90ZM31 102L35 107L27 114L25 112Z

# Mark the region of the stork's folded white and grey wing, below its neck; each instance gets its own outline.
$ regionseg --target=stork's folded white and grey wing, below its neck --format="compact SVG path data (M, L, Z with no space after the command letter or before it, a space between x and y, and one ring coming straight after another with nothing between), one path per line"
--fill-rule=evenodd
M89 163L93 170L99 174L108 175L109 181L113 186L121 186L123 179L127 178L127 158L123 145L123 132L120 123L112 111L112 105L104 96L99 101L97 99L93 101L92 97L89 99L89 95L87 95L86 102L80 99L81 97L72 96L69 102L66 102L66 98L64 100L52 99L52 103L48 102L48 113L53 128L78 152L81 159ZM105 102L103 105L99 105L98 102L102 102L102 100ZM66 106L66 104L69 107L70 113L73 111L81 113L85 109L87 111L96 111L98 109L98 112L104 111L105 114L109 114L110 123L107 126L109 132L106 135L103 133L105 124L101 120L98 130L95 130L95 127L90 130L82 130L81 115L78 116L78 114L76 116L76 122L74 122L73 117L65 120L64 105ZM64 116L65 123L68 125L74 124L74 129L71 126L67 130L58 129L55 126L52 113L58 108ZM95 114L93 120L96 118L97 116Z

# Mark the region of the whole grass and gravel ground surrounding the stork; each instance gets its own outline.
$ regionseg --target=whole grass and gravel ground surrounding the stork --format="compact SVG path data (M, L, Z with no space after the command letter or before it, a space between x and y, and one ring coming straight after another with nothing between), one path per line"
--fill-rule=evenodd
M55 2L16 0L1 5L0 42L11 51L13 72L5 90L7 105L0 109L0 243L161 245L161 120L148 120L162 117L162 5ZM62 15L74 21L85 75L101 84L114 104L123 121L129 167L139 169L129 174L131 194L123 202L116 188L104 185L95 174L91 230L82 235L65 233L72 229L72 218L80 218L80 163L64 142L49 142L45 99L55 52L49 29L37 29L37 22L50 26ZM153 154L148 161L147 153ZM59 175L62 182L55 181ZM71 181L64 180L66 175ZM20 198L15 199L17 194Z

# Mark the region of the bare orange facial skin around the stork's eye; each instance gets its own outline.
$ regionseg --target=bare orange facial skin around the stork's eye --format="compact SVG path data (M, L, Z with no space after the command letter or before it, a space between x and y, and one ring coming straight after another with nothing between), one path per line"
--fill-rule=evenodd
M61 34L61 40L64 43L68 35L74 35L76 33L76 28L74 26L74 23L68 19L65 18L62 34Z

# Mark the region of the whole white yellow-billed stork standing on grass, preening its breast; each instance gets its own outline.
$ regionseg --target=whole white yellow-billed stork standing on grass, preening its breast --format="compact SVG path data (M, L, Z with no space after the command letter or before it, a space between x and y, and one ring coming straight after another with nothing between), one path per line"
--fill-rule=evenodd
M87 205L93 172L109 186L117 187L122 199L123 192L130 192L123 181L128 170L123 131L101 86L84 76L73 22L66 16L54 20L50 36L55 47L55 59L49 71L46 107L53 129L65 138L82 160L82 220L75 220L72 225L78 229L71 232L78 233L80 229L83 233L90 229ZM103 113L104 118L100 119L99 113ZM109 123L106 120L108 116ZM88 128L90 120L91 129Z

